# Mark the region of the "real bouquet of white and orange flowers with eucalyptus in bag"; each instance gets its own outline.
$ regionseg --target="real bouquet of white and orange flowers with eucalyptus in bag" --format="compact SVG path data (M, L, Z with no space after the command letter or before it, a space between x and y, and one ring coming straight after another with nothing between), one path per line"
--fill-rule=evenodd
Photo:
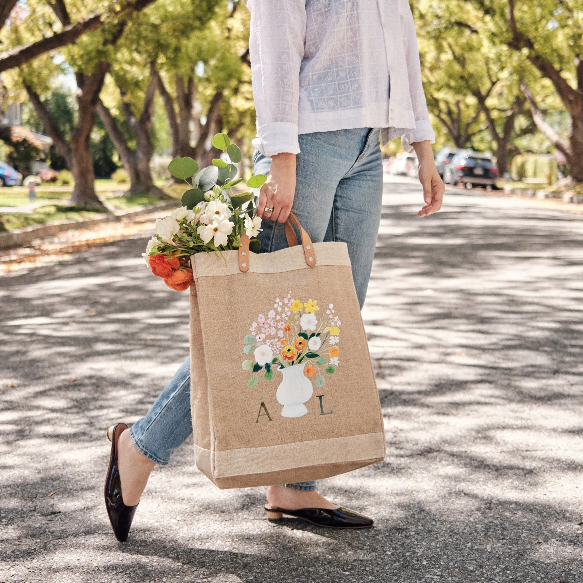
M223 152L212 166L199 170L189 157L175 158L168 164L168 171L192 188L182 195L180 208L156 220L154 236L142 254L152 273L178 291L190 287L191 255L237 249L243 233L251 240L251 251L257 253L261 248L257 238L261 219L255 216L254 193L267 177L252 176L247 181L250 192L234 194L233 188L243 181L236 178L237 167L233 164L241 161L241 151L226 134L215 135L212 143Z

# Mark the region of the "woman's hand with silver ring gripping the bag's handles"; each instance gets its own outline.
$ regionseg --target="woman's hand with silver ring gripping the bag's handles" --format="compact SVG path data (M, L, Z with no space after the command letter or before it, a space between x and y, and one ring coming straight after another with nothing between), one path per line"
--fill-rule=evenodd
M271 170L259 192L257 215L285 223L296 194L296 154L283 152L271 159ZM273 209L268 212L266 209Z

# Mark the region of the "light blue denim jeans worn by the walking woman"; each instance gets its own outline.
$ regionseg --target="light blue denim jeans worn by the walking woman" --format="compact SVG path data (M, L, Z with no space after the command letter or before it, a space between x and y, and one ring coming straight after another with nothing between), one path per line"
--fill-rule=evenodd
M382 158L378 134L378 128L356 128L300 135L296 196L291 209L314 243L343 241L348 245L361 308L381 220ZM269 173L271 158L255 152L253 161L256 174ZM283 224L264 220L261 227L261 252L287 247ZM129 434L146 458L166 465L191 433L187 359ZM315 484L312 480L285 486L315 490Z

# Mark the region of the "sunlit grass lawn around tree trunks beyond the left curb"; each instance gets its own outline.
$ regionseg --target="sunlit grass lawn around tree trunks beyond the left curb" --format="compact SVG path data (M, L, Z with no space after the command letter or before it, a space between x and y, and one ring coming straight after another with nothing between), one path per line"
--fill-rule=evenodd
M160 187L164 186L164 181ZM118 184L113 180L96 180L95 189L99 198L107 203L107 206L117 210L127 210L136 206L151 205L160 202L159 198L152 195L125 195L129 184ZM186 185L173 184L164 188L170 196L180 199ZM44 224L58 220L90 219L100 215L103 211L68 204L71 198L72 186L40 185L36 188L36 201L32 212L13 213L0 212L0 231L21 229L37 224ZM27 187L0 188L0 206L27 206L29 205L29 193ZM3 225L3 229L2 229Z

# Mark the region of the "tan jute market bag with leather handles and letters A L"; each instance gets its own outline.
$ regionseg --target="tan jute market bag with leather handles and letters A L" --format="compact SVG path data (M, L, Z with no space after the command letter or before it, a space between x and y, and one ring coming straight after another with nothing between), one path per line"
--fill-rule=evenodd
M385 434L345 243L286 224L289 248L192 255L196 465L219 488L382 461Z

